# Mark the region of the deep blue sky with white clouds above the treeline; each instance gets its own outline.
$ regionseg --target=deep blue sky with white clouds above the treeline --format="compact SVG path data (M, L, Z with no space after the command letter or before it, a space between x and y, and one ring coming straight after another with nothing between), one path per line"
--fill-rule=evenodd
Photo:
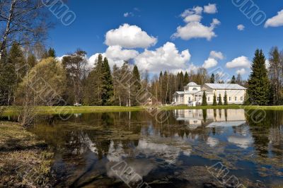
M283 25L283 13L277 16L277 12L283 9L283 1L270 0L266 2L254 0L253 2L260 11L265 13L267 16L266 20L270 19L267 28L265 27L265 22L258 26L254 25L252 20L248 19L241 12L240 8L232 3L232 0L69 1L67 6L76 14L76 20L69 26L63 25L58 20L56 27L50 32L50 39L47 41L47 45L54 47L59 57L81 48L88 53L88 57L94 55L92 58L94 59L96 57L95 54L105 53L109 49L105 56L109 55L113 62L117 61L117 64L119 64L121 59L125 60L128 57L132 57L131 61L137 62L141 69L149 69L154 74L158 71L158 67L161 70L177 71L178 66L180 66L180 69L188 71L204 66L204 61L209 59L209 54L215 51L218 54L221 52L223 57L216 57L215 53L210 55L210 60L214 59L217 65L215 65L215 61L207 62L207 64L210 64L209 66L214 65L208 68L209 71L220 67L222 72L233 75L240 70L243 77L247 78L249 74L247 63L252 61L255 49L263 49L266 56L268 56L268 52L273 46L283 49L283 26L281 26ZM213 6L208 6L209 4L215 5L214 8L216 9ZM192 8L197 6L202 8L201 13L192 10ZM204 6L208 6L206 11ZM182 17L181 14L185 10L190 10L190 13L185 13ZM208 37L205 37L207 35L200 36L201 33L194 33L190 30L187 24L191 22L185 22L184 20L191 15L199 15L201 17L201 20L194 20L197 22L197 26L208 28L212 24L213 19L216 18L219 21L210 30L214 33L210 40L208 40ZM56 20L57 18L54 16L53 19ZM124 25L125 23L127 25ZM125 27L122 27L122 25ZM245 28L238 30L238 25L244 25ZM182 28L187 26L187 28L183 30L183 33L172 37L177 32L178 26ZM118 32L118 28L120 28L120 32ZM146 47L140 47L139 42L142 43L142 41L129 41L133 45L125 44L124 42L121 44L122 37L125 37L123 33L129 34L129 30L127 30L129 28L133 30L141 29L142 32L146 33L147 39L155 41L149 42ZM105 35L109 30L113 30L112 34L115 34L115 36L110 37L110 42L106 45ZM115 33L115 30L117 33ZM184 35L188 33L192 33L190 36L193 37L185 39ZM115 40L116 34L123 35L121 37L118 36L121 39L120 41ZM166 45L166 42L170 43ZM112 46L115 46L115 50L110 48ZM120 48L117 46L120 46ZM160 49L157 50L158 48ZM166 49L168 49L168 52L163 53ZM175 49L178 49L177 54L173 52ZM148 52L144 53L145 50ZM189 56L187 56L186 52L182 54L186 50L189 51ZM120 59L121 54L124 55ZM169 59L164 59L167 55ZM243 57L246 57L246 59ZM148 59L153 60L149 61ZM161 60L159 61L158 59ZM178 63L174 59L178 59ZM233 61L233 59L236 60ZM230 66L226 66L227 62L231 62ZM235 64L237 64L236 67Z

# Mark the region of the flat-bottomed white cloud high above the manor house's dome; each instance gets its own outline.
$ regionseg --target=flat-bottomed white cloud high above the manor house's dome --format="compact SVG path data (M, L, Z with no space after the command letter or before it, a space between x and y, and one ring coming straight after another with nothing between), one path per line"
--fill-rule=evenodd
M214 28L219 25L220 21L213 19L210 27L202 25L202 23L193 21L187 23L184 27L179 26L177 32L172 35L173 38L180 37L183 40L190 40L192 38L206 38L212 40L212 37L216 37Z

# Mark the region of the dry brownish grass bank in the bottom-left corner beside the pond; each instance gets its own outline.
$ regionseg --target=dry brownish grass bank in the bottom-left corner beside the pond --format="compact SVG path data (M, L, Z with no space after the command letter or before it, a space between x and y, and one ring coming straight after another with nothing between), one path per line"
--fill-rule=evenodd
M51 180L53 155L23 127L0 122L0 187L42 187Z

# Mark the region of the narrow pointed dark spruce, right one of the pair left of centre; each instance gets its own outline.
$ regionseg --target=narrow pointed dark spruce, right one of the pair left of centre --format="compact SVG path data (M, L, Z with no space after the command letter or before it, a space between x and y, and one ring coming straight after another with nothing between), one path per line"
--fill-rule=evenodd
M113 81L110 66L108 64L108 59L105 57L103 59L103 95L102 95L102 105L111 105L113 96Z

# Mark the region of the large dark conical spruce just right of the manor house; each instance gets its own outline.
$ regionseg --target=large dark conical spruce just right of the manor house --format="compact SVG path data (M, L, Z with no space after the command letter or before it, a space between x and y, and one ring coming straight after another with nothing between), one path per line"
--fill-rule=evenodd
M248 100L252 105L267 105L269 103L270 84L265 67L265 55L260 49L255 51L247 93Z

